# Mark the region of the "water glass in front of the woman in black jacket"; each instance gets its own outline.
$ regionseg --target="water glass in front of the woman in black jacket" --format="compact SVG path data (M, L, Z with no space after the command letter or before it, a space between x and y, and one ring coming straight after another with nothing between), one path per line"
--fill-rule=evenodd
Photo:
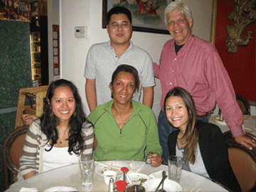
M182 164L183 164L183 158L181 156L168 157L169 179L179 183L179 181L181 180Z

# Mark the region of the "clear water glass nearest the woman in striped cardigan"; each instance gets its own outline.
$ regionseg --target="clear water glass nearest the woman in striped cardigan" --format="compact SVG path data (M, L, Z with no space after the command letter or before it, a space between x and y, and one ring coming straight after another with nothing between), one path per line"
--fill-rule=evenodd
M82 176L82 187L92 188L93 186L93 172L94 172L94 159L81 158L79 166Z

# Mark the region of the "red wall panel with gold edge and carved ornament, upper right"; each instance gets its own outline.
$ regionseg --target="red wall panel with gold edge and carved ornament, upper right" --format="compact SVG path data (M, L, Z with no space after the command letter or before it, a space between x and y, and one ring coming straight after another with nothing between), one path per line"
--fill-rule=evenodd
M218 50L235 93L256 106L255 1L213 0L212 13L211 43Z

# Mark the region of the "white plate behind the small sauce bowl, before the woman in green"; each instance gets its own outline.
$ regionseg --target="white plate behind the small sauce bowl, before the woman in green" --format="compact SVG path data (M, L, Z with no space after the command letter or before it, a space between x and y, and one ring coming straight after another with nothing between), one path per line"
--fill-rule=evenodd
M105 165L102 165L102 164L105 164ZM123 172L121 171L121 168L124 166L129 169L129 164L125 164L122 161L99 162L99 164L97 164L97 166L95 167L95 171L100 176L103 176L104 171L109 171L109 170L116 171L117 176L122 176Z

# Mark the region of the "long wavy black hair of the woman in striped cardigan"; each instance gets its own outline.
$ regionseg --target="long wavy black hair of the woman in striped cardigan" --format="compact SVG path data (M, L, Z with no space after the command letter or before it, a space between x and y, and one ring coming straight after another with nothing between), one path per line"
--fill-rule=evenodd
M46 94L46 104L44 107L44 114L41 119L41 130L46 134L47 142L51 141L50 151L54 144L58 141L58 129L59 124L58 117L53 114L51 110L51 100L57 87L70 87L75 97L75 112L69 119L70 130L68 137L68 152L71 154L73 151L75 154L81 154L84 148L84 138L82 137L82 123L85 122L85 112L82 110L82 100L78 93L78 88L75 87L73 82L60 79L52 82L48 88Z

